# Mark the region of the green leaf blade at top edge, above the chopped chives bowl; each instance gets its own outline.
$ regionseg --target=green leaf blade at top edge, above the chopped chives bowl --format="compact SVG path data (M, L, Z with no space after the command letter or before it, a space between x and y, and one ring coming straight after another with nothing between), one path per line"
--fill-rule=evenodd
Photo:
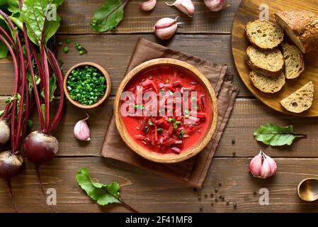
M124 8L128 0L106 0L99 8L91 21L91 29L104 32L116 28L123 20Z

